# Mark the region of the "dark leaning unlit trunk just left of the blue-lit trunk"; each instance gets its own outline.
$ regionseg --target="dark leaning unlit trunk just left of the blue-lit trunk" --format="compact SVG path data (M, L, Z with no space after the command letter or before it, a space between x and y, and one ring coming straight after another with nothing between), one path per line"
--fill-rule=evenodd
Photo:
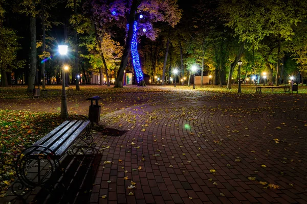
M114 88L123 88L123 77L124 77L124 70L128 64L128 56L131 50L131 41L134 33L134 21L136 16L136 11L138 10L139 5L141 4L142 0L133 0L132 5L130 7L130 13L128 17L129 22L129 30L126 39L126 44L123 50L122 59L120 62L120 66L117 73L117 78L114 84Z

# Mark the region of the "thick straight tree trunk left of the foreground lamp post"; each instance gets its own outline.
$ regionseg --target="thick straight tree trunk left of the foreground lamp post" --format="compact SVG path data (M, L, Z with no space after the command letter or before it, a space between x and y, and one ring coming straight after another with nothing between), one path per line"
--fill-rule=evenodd
M35 0L32 0L32 5L35 8ZM35 9L34 9L35 10ZM36 71L36 17L30 15L30 39L31 39L31 52L30 52L30 67L28 78L28 92L32 92L35 82Z

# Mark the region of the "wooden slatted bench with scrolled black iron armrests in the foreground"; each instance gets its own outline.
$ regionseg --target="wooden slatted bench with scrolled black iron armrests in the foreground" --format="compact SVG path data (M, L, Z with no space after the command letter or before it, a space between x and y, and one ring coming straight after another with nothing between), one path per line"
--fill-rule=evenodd
M17 196L14 199L25 202L23 197L35 187L46 189L52 195L58 181L55 178L64 175L60 160L67 152L77 155L98 151L92 147L90 131L90 121L85 116L76 115L21 152L16 160L18 179L11 186L12 193ZM74 144L77 139L82 140L83 145Z

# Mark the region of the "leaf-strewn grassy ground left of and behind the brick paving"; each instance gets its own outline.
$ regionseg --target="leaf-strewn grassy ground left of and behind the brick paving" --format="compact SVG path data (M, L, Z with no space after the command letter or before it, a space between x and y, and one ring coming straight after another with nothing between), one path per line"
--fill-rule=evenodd
M72 86L74 89L75 87ZM231 90L226 86L205 85L200 86L173 85L147 87L126 86L115 89L112 86L81 86L81 91L74 91L74 96L68 96L69 113L86 115L89 101L85 99L90 96L102 97L100 104L102 114L112 112L121 108L136 106L152 101L168 99L168 97L189 97L195 94L213 93L214 95L231 95L233 97L269 98L268 93L256 94L256 87L242 85L242 95L237 93L237 85L232 85ZM61 89L60 85L48 85L47 89ZM172 93L172 90L178 90ZM279 89L282 91L283 89ZM307 86L299 86L299 95L307 93ZM265 90L267 91L267 90ZM169 93L169 94L168 94ZM270 92L271 95L272 92ZM274 94L277 92L274 92ZM282 93L283 96L289 93ZM305 98L305 97L303 97ZM60 96L32 99L32 94L26 92L26 86L0 87L0 197L5 196L8 185L14 181L14 161L20 151L36 142L39 138L49 133L58 126L62 119L59 117Z

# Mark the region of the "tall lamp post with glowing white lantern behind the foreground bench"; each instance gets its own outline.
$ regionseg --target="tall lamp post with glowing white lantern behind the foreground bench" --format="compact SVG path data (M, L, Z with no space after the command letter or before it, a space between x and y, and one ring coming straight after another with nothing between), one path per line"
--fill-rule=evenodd
M68 118L67 111L67 101L65 93L65 69L68 69L67 66L64 67L64 56L67 54L68 45L58 45L59 53L62 57L62 96L61 96L61 118Z

